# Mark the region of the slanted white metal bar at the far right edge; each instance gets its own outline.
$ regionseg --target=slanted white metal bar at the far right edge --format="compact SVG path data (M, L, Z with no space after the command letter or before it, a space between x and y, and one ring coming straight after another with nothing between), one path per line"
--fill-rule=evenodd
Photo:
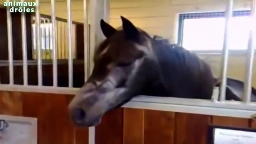
M253 0L252 3L252 12L251 12L251 29L249 31L249 41L247 49L247 59L246 59L246 72L245 72L245 82L244 82L244 96L243 101L245 103L251 102L252 94L252 73L253 73L253 57L256 48L256 0Z

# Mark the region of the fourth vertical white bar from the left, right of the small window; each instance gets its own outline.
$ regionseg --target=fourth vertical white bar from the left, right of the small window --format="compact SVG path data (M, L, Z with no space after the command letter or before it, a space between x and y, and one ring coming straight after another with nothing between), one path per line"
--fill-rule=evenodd
M57 47L56 47L56 18L55 18L55 0L51 0L51 29L53 46L53 87L57 87Z

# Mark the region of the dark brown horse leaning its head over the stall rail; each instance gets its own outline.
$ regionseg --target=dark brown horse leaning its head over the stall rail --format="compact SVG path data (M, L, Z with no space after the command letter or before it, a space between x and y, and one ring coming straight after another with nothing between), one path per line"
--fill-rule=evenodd
M138 95L212 98L220 81L205 60L181 46L152 38L123 16L121 21L117 29L100 21L106 39L96 48L90 77L68 107L76 126L99 125L106 112ZM232 95L227 99L241 100L233 92L237 82L228 79L227 84L227 94ZM243 89L240 83L238 87Z

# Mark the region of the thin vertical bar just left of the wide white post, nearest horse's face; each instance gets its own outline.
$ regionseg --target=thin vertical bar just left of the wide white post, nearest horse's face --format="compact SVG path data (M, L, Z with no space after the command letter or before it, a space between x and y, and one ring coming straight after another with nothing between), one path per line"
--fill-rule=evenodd
M88 78L88 13L87 0L84 0L84 81Z

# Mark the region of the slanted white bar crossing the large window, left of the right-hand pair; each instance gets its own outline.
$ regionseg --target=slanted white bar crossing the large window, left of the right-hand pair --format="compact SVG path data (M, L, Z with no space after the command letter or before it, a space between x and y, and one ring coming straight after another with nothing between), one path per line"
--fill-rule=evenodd
M226 9L226 21L225 21L225 31L224 31L224 43L222 50L222 66L221 66L221 88L220 88L220 101L225 101L226 99L226 85L227 85L227 68L228 68L228 49L229 49L229 39L228 33L230 28L230 19L232 18L233 0L228 0Z

